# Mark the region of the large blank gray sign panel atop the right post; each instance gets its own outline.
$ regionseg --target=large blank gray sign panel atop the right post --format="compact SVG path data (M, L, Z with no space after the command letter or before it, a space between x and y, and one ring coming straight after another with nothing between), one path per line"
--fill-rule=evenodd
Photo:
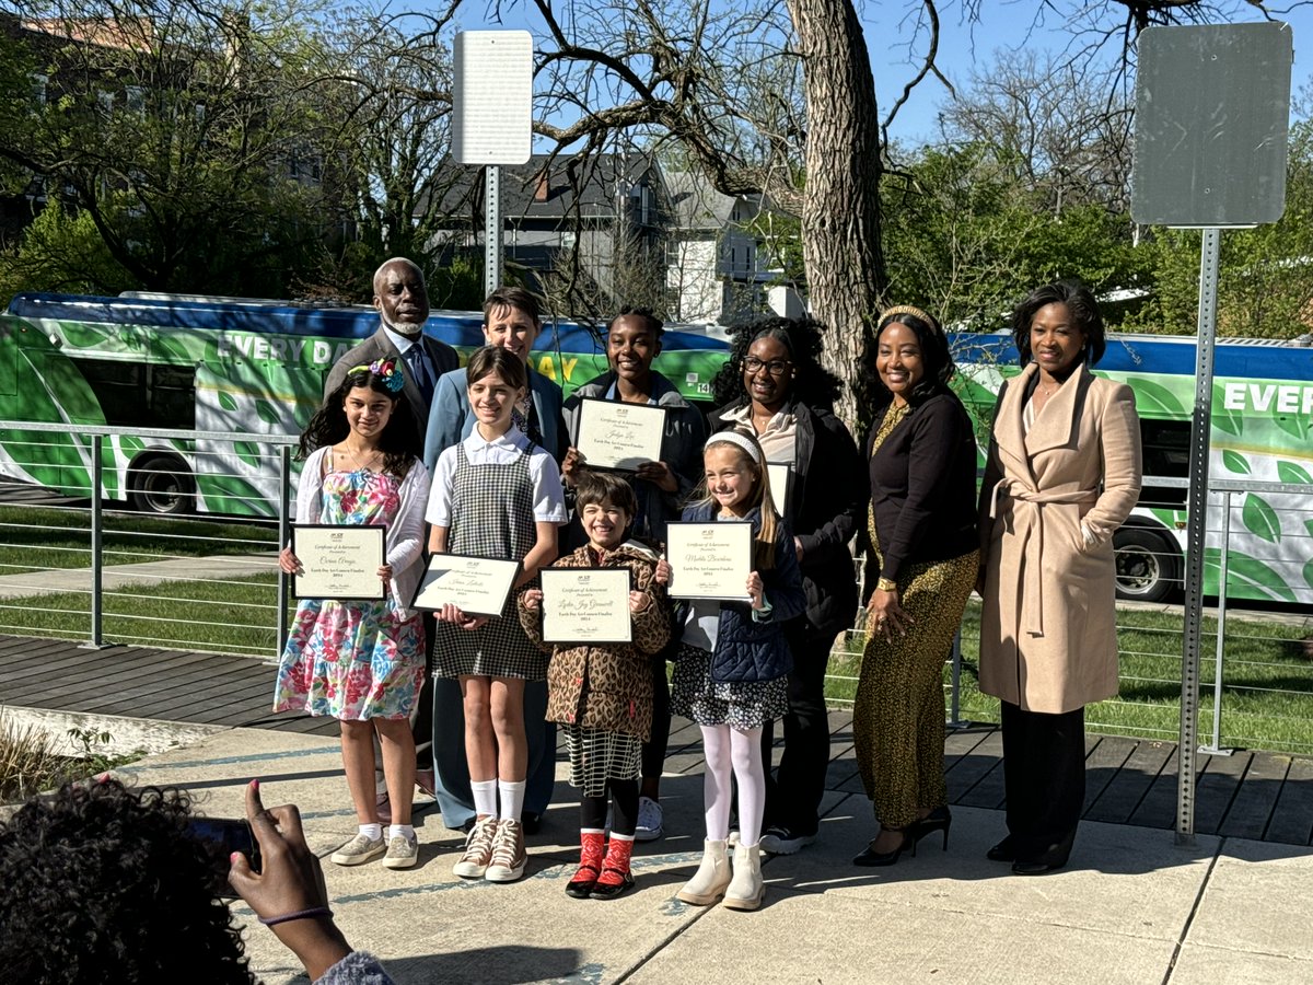
M1289 25L1150 28L1138 51L1134 221L1276 222L1285 210Z

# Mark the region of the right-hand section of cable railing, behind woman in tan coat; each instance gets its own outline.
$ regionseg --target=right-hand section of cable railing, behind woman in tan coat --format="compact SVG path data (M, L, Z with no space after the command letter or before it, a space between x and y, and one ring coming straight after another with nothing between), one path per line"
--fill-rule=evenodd
M1141 500L1113 541L1120 690L1086 709L1091 732L1179 738L1183 486L1146 478L1155 498ZM1209 499L1211 608L1196 696L1203 749L1313 753L1313 485L1221 479L1211 483ZM999 721L998 701L978 687L979 604L973 596L958 645L945 658L951 725ZM853 701L864 646L859 613L830 655L827 693L836 707Z

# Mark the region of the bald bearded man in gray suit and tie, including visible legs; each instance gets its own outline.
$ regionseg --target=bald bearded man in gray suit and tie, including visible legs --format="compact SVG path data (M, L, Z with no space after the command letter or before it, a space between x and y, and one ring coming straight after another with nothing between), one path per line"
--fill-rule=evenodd
M385 260L374 272L374 307L378 309L378 331L360 345L347 352L324 380L327 398L347 374L360 365L369 365L378 359L395 359L404 366L406 386L402 395L410 405L418 433L411 448L416 457L424 456L424 433L428 429L428 411L433 403L433 390L444 373L460 366L456 349L444 341L424 335L424 322L428 320L428 289L424 286L424 272L403 256ZM425 636L433 638L433 619L425 613ZM420 789L433 793L433 725L432 725L433 679L424 675L424 688L415 701L416 713L411 722L415 733L416 770L415 780ZM378 738L374 738L376 762L378 760ZM382 772L377 771L379 820L387 823L391 818L391 805L387 802L387 788L382 784ZM386 814L386 817L383 817Z

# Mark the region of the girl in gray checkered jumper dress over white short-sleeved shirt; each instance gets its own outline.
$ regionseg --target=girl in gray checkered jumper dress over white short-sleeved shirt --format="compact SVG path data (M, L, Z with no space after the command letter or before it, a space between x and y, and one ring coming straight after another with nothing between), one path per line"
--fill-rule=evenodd
M523 359L486 345L470 356L465 380L477 423L465 440L439 456L428 500L428 546L435 554L519 561L515 588L523 590L557 557L557 527L566 521L561 473L548 452L512 426L528 386ZM525 636L515 592L495 617L448 603L437 619L435 667L439 676L461 684L475 809L465 851L452 871L465 879L512 883L528 860L520 820L529 767L524 684L546 678L548 658Z

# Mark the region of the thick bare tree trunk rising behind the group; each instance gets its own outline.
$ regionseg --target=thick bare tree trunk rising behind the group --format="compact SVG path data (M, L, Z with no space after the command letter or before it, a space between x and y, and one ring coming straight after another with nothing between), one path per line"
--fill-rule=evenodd
M807 106L802 259L814 317L830 327L826 368L848 383L835 412L868 416L864 386L888 273L881 244L876 83L851 0L789 0Z

